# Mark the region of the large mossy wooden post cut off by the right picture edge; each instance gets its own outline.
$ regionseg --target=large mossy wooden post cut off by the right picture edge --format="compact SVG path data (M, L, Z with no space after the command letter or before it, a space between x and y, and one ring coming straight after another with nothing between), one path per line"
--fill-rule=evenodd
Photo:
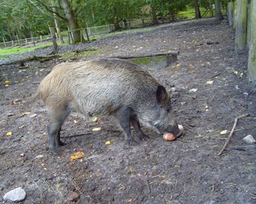
M256 1L251 1L251 18L256 22ZM253 89L256 90L256 24L251 24L251 38L249 43L248 56L248 80L252 82Z

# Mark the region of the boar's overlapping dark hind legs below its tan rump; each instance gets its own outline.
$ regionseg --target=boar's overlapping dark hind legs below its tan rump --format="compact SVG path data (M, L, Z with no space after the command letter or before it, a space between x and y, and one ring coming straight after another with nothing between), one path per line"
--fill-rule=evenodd
M64 120L68 117L71 110L72 109L67 106L61 107L60 110L49 110L50 121L47 126L47 132L49 136L50 149L54 154L58 152L57 148L59 146L65 145L65 143L60 140L60 131Z

